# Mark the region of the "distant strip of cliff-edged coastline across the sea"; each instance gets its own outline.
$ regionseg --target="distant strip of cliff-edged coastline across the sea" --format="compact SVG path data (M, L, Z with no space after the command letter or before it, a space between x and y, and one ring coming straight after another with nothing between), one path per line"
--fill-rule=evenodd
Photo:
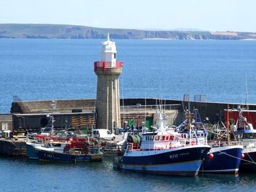
M210 31L154 31L108 29L72 25L0 24L0 38L75 38L104 39L110 33L114 39L256 39L256 34L245 32Z

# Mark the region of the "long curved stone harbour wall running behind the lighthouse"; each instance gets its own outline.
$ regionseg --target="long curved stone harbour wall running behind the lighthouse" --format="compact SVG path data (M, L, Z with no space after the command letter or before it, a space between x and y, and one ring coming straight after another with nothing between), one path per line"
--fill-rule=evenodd
M55 100L54 100L55 101ZM13 114L34 114L34 113L51 113L51 103L52 100L41 100L41 101L20 101L13 102L11 107L11 113ZM54 109L54 113L94 113L95 109L95 100L94 99L73 99L73 100L56 100L56 108ZM178 125L185 119L184 111L189 108L193 110L197 108L199 110L199 114L201 115L202 121L204 121L205 117L208 117L211 123L214 123L217 120L218 114L221 119L224 119L223 110L227 109L228 105L230 109L236 109L239 103L220 103L220 102L196 102L196 101L182 101L182 100L171 100L171 99L157 99L157 98L130 98L130 99L120 99L121 106L121 126L124 126L126 121L131 121L134 119L134 125L142 124L145 122L145 116L152 119L151 124L156 124L156 112L157 109L152 109L150 112L145 113L142 108L140 111L134 111L136 107L139 106L159 106L159 105L179 105L179 108L173 108L175 110L165 111L171 113L167 116L168 120L166 121L169 125ZM131 113L123 113L122 108L126 107L127 109L133 108ZM170 108L171 109L171 108ZM250 104L249 109L256 110L256 105ZM9 127L12 126L12 121L10 120L10 115L7 117L6 115L1 115L5 122L8 121ZM33 115L32 115L33 116ZM32 118L32 117L31 117ZM9 120L8 120L9 119ZM3 121L2 120L2 121ZM1 120L0 120L1 121ZM2 126L0 124L0 126Z

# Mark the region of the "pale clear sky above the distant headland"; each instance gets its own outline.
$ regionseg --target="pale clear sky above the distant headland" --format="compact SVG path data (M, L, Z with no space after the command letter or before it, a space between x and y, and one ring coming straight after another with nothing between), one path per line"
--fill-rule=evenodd
M0 23L256 32L253 0L0 0Z

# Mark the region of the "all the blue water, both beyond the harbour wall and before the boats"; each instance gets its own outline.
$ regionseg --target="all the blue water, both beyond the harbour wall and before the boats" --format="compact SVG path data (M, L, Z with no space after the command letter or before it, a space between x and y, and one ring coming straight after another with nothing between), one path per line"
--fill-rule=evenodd
M22 100L95 98L102 40L0 39L0 113ZM124 98L256 103L255 41L116 40ZM54 164L0 157L0 191L254 191L256 174L169 177L103 162Z

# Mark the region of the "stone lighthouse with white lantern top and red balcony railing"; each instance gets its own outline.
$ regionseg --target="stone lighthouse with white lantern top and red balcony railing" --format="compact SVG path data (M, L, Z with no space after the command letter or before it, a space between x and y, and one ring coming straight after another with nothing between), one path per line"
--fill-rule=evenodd
M94 62L97 75L97 129L114 129L121 127L119 75L122 73L123 62L116 61L116 45L110 41L102 42L101 60Z

